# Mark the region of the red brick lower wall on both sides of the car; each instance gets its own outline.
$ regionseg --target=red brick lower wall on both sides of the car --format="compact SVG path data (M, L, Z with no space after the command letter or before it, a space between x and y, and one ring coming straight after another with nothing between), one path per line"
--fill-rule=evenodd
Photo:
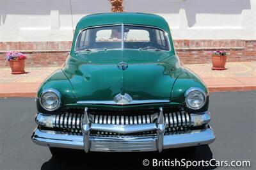
M24 52L27 66L60 66L68 56L72 42L0 42L0 66L7 50ZM211 50L230 52L228 61L256 61L256 40L174 40L182 63L211 63Z

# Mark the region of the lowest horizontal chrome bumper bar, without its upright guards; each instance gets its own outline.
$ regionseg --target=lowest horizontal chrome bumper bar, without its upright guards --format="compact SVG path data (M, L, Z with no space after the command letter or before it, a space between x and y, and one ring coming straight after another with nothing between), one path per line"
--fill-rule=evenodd
M164 135L163 149L210 144L215 140L211 128L191 130L186 134ZM35 144L48 147L84 150L83 135L58 134L36 128L32 135ZM157 137L90 137L90 151L157 151Z

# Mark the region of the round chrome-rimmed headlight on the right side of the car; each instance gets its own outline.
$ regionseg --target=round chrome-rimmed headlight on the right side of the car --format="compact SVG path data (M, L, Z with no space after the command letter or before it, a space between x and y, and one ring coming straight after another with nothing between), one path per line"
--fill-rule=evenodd
M200 88L189 88L185 93L185 102L190 109L200 109L206 102L204 90Z

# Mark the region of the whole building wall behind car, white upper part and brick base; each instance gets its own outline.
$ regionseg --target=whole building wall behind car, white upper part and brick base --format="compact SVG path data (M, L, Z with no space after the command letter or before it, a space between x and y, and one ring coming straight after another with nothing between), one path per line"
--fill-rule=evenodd
M125 0L127 12L161 15L183 63L210 63L211 50L228 61L256 61L256 0ZM79 19L110 12L108 0L0 0L0 66L5 52L27 54L27 65L61 65Z

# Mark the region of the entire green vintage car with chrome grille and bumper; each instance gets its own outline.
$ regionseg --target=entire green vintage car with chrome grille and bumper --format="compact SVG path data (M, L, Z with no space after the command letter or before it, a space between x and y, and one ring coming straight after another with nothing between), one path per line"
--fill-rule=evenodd
M180 65L166 20L147 13L83 17L36 104L32 140L53 154L161 152L215 139L204 82Z

